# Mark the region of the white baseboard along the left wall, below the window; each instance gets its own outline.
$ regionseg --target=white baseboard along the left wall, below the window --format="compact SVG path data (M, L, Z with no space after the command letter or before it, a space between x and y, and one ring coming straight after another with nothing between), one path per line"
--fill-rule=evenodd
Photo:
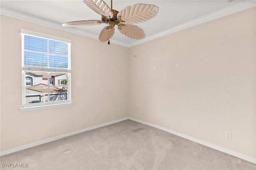
M53 138L50 138L50 139L46 139L46 140L43 140L43 141L38 141L38 142L30 143L28 145L24 145L24 146L21 146L21 147L16 147L16 148L9 149L9 150L4 150L4 151L0 152L0 156L10 154L10 153L13 153L13 152L17 152L17 151L20 151L20 150L28 149L28 148L31 148L31 147L35 147L35 146L38 146L38 145L42 145L44 143L56 141L58 139L68 137L68 136L71 136L71 135L75 135L75 134L78 134L78 133L82 133L82 132L85 132L85 131L90 131L90 130L93 130L93 129L97 129L99 127L104 127L104 126L107 126L107 125L118 123L120 121L124 121L124 120L127 120L127 119L128 119L128 117L124 117L122 119L118 119L118 120L115 120L115 121L110 121L110 122L103 123L101 125L96 125L96 126L93 126L93 127L88 127L88 128L85 128L85 129L81 129L81 130L78 130L78 131L71 132L71 133L66 133L64 135L60 135L60 136L53 137Z

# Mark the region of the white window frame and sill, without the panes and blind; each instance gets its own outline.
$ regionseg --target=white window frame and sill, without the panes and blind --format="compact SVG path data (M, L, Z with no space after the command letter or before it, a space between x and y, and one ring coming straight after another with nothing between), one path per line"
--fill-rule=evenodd
M52 35L47 35L44 33L38 33L35 31L30 31L26 29L20 29L22 37L24 35L32 35L36 37L42 37L46 39L52 39L54 41L62 41L66 42L69 45L69 49L71 47L71 40L65 39L61 37L55 37ZM22 40L23 41L23 40ZM22 63L24 62L24 42L22 42ZM53 108L53 107L62 107L62 106L70 106L73 103L71 102L71 64L70 64L70 50L68 51L68 69L61 69L61 68L39 68L39 67L25 67L22 66L22 107L20 108L20 111L30 111L30 110L36 110L36 109L46 109L46 108ZM66 73L68 75L68 100L64 101L55 101L55 102L43 102L43 103L37 103L37 104L26 104L26 75L25 71L40 71L40 72L48 72L48 80L49 80L49 86L50 86L50 72L61 72Z

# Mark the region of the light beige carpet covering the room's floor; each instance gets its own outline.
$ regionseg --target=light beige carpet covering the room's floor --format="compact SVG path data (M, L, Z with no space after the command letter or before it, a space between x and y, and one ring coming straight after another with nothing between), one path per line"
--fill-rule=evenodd
M2 170L255 170L256 164L131 120L1 156ZM27 163L27 168L2 168Z

